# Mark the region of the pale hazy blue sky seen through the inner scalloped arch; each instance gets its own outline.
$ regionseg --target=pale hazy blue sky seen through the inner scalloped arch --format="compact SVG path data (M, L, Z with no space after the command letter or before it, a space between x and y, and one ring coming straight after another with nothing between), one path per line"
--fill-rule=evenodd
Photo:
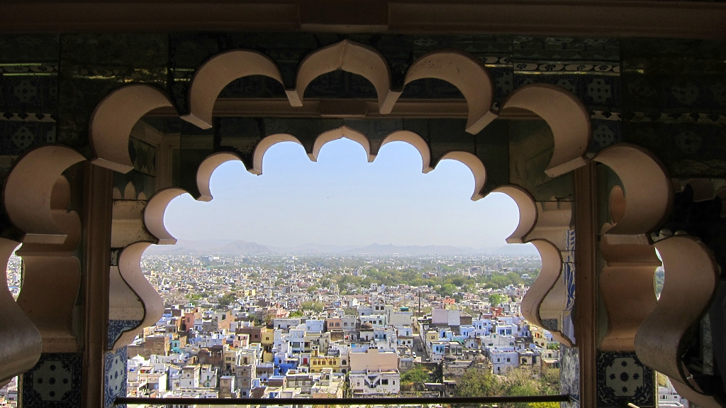
M474 178L454 160L421 173L421 156L404 142L380 149L367 163L360 144L325 144L317 163L293 142L274 145L263 174L225 163L211 180L214 199L185 194L165 221L184 240L236 239L291 247L333 245L456 245L499 247L514 231L518 210L503 194L473 202Z

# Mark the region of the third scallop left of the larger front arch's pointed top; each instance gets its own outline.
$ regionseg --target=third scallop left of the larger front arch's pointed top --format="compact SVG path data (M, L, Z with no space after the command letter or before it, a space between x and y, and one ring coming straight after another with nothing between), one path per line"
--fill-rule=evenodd
M62 244L68 234L56 224L51 208L53 187L70 166L84 160L76 150L47 144L15 162L5 181L3 201L22 242Z

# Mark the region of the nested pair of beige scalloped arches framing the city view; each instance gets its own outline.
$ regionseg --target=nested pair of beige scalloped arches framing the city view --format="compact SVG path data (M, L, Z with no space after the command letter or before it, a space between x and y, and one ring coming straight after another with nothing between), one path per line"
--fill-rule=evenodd
M394 89L388 64L378 52L353 41L340 41L319 49L301 62L295 88L286 90L290 105L303 105L303 93L310 81L337 69L357 73L371 81L378 94L380 113L391 113L403 89ZM221 89L234 79L250 75L264 75L282 82L280 69L258 52L234 50L211 57L192 78L190 113L181 116L181 119L199 128L211 127L213 104ZM523 86L508 95L499 110L494 110L492 80L486 68L468 54L447 50L431 52L416 60L407 71L403 86L420 78L439 78L452 83L462 92L468 105L466 131L471 134L477 134L508 108L529 110L542 118L554 136L554 152L545 170L548 176L566 174L590 162L586 157L592 136L590 115L582 102L565 89L537 83ZM168 95L153 86L131 84L108 94L91 116L91 163L121 173L130 171L133 165L126 147L131 128L151 110L172 106ZM276 143L298 142L309 158L316 160L325 143L340 137L362 144L369 161L375 160L380 145L387 142L412 144L423 158L423 172L431 171L440 160L458 160L474 175L472 200L488 193L484 189L486 167L470 152L453 150L434 154L425 139L413 131L395 131L380 143L372 143L367 135L343 126L319 134L314 142L305 144L292 134L266 136L257 142L251 158L242 158L232 152L213 153L197 169L196 181L200 192L197 200L212 200L209 181L214 169L221 163L240 160L248 171L261 174L264 153ZM5 264L12 248L22 242L24 246L20 255L24 260L32 259L38 265L65 260L68 266L62 273L69 277L69 285L75 285L73 282L76 282L80 269L73 264L76 258L71 252L78 243L80 230L77 215L66 209L67 181L63 181L62 174L83 160L86 159L79 152L58 145L38 147L17 160L3 190L7 216L15 231L12 237L0 239L0 256L4 257ZM715 293L716 266L712 256L709 258L709 250L693 237L672 237L656 242L655 248L663 258L669 284L657 303L653 302L654 294L653 298L643 295L653 290L652 287L648 290L647 278L659 264L653 258L650 234L669 213L672 183L658 159L635 145L613 145L592 160L615 171L623 181L625 192L613 195L611 207L614 209L613 221L616 221L603 231L602 252L607 266L600 277L600 290L611 324L601 344L605 349L635 350L645 364L665 372L694 393L702 393L688 381L688 373L682 369L678 353L688 335L688 327L703 316ZM573 208L561 203L537 203L520 186L507 185L494 191L512 197L519 208L520 222L507 242L532 242L542 256L542 273L525 296L522 309L524 316L534 325L548 327L548 321L561 319L563 311L572 307L574 294L569 293L566 275L571 275L574 268ZM117 338L109 339L108 349L126 346L139 329L157 322L163 313L160 296L143 277L139 262L149 245L176 243L163 225L163 214L168 203L184 192L179 188L161 189L149 198L146 205L132 203L114 208L114 218L125 221L119 222L124 227L112 236L112 247L122 249L110 266L110 301L111 307L118 308L130 323L123 327ZM688 262L703 266L700 269L703 280L694 282L693 274L685 270ZM625 306L619 305L618 301L622 299L616 299L616 294L623 290L619 275L634 271L640 279L627 290ZM671 276L676 278L670 279ZM652 277L649 282L652 286ZM672 293L672 287L679 284L688 287L693 294L703 295L703 302L682 309L679 315L682 325L670 327L669 335L661 336L659 333L666 328L666 318L672 316L674 307L682 306ZM32 297L33 289L23 296ZM23 293L26 293L25 288ZM0 382L33 367L41 351L75 350L77 339L73 338L68 327L70 301L70 298L57 298L47 304L58 314L58 319L51 323L39 318L38 311L31 310L30 301L19 299L16 303L9 291L0 287L0 306L7 311L0 316L0 325L15 327L11 334L20 340L13 340L10 346L0 349ZM624 318L634 308L647 310L648 313ZM561 326L548 328L560 342L574 344L574 339ZM2 339L3 342L6 340Z

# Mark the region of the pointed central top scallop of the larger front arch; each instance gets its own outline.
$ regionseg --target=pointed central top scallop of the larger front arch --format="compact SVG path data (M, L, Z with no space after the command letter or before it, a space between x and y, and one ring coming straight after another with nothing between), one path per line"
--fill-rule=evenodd
M344 70L366 78L375 87L378 105L383 106L391 91L391 71L388 62L375 49L354 41L343 40L309 54L298 67L295 89L287 90L293 106L303 105L308 84L322 74Z

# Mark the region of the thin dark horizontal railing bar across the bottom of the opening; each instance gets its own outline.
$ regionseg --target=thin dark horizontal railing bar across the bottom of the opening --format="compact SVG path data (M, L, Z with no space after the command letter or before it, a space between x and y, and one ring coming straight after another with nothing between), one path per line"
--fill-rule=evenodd
M454 396L385 398L140 398L117 397L113 404L147 405L408 405L408 404L494 404L503 402L570 402L568 394L534 396Z

